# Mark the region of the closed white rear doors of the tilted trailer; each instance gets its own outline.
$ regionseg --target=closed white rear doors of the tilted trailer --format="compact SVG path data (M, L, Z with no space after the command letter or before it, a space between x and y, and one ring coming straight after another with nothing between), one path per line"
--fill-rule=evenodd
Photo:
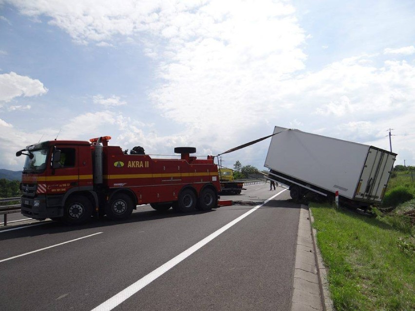
M356 200L382 201L395 159L395 153L377 149L373 146L369 148L356 189Z

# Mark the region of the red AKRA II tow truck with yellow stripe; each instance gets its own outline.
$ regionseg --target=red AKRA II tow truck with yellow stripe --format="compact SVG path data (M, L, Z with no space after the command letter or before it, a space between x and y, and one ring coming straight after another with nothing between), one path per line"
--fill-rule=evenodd
M54 140L27 146L22 172L21 213L29 218L80 224L91 216L128 218L140 204L180 212L218 207L220 181L213 156L190 156L193 147L176 147L180 159L152 159L109 146L110 136L86 141Z

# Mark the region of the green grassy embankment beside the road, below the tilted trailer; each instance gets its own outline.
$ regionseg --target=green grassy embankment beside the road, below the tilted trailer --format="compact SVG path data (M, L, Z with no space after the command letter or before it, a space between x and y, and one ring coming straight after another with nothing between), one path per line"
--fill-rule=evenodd
M376 217L310 204L336 310L415 310L414 198L411 173L399 172Z

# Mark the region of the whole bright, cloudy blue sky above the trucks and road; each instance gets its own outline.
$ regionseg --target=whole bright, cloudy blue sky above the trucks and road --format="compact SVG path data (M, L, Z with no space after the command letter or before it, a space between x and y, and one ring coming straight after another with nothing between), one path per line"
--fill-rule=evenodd
M0 168L55 138L205 157L274 126L386 150L391 128L415 165L414 121L413 0L0 0ZM222 165L262 170L269 142Z

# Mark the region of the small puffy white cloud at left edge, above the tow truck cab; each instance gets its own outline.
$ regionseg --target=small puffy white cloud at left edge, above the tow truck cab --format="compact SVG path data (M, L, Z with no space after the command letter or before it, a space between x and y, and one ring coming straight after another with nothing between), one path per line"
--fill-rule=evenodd
M37 96L48 91L39 80L17 73L0 74L0 101L9 102L18 96Z

